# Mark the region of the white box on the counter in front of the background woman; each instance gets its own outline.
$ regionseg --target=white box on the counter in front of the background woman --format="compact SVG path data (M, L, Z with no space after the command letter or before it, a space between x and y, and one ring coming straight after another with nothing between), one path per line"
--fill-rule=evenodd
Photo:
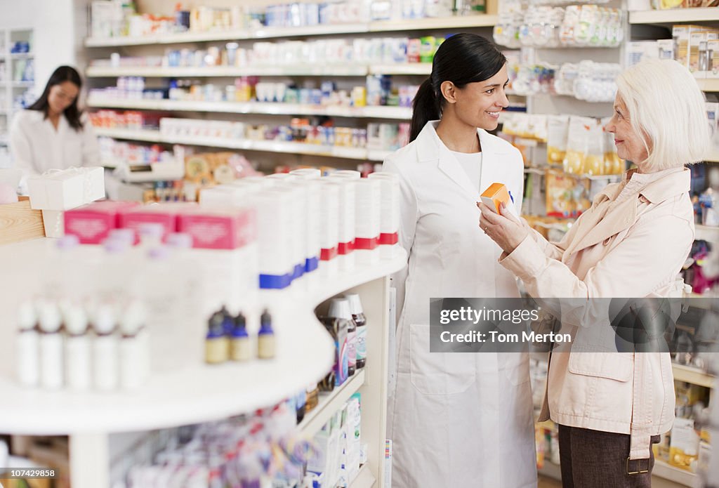
M35 210L70 210L105 198L103 167L73 167L27 178L30 206Z

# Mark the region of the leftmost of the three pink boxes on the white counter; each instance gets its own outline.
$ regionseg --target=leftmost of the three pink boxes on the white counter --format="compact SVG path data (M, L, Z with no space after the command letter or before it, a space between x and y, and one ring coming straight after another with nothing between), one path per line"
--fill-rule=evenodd
M100 201L65 212L65 234L78 236L81 244L101 244L112 229L119 228L122 211L137 202Z

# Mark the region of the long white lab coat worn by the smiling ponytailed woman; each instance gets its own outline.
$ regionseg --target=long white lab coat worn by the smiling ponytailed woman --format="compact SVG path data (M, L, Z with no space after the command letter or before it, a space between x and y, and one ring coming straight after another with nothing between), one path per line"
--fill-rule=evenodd
M476 183L435 132L385 160L400 177L400 243L408 267L398 288L396 386L388 402L393 488L536 487L528 355L430 353L430 298L518 297L479 229ZM478 129L480 188L505 183L521 208L523 163L508 142ZM403 304L402 304L403 302Z

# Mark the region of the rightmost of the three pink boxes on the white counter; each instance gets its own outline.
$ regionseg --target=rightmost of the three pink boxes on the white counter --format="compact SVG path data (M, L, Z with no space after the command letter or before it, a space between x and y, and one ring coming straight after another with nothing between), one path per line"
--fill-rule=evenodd
M257 216L254 208L198 208L180 213L178 231L197 249L238 249L257 239Z

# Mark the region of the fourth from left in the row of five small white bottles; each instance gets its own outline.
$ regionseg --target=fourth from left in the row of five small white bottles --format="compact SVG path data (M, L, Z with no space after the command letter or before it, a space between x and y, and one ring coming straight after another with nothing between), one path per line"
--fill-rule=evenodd
M118 352L115 318L109 305L100 305L93 320L97 336L93 340L93 386L108 392L117 389Z

